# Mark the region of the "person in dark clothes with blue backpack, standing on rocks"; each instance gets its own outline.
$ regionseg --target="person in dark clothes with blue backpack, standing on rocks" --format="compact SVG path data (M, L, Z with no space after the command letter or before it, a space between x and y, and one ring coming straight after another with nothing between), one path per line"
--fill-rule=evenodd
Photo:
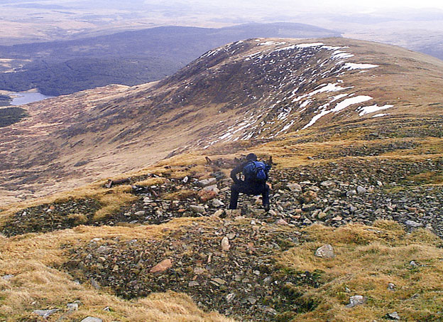
M229 209L237 208L239 193L246 195L262 195L263 208L269 210L269 186L266 184L268 180L268 171L270 166L261 161L257 161L257 156L253 153L246 156L246 161L236 166L231 171L231 178L234 185L231 186L231 202ZM244 174L244 180L240 180L237 175Z

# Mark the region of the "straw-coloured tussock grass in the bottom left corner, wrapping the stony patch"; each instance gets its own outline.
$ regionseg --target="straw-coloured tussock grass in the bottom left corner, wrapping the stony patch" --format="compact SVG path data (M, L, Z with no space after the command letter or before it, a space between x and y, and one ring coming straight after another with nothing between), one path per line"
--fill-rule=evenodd
M97 290L89 284L77 284L59 267L67 260L62 245L82 245L92 238L121 240L161 238L165 232L180 230L197 219L183 218L161 226L88 227L50 232L44 235L28 234L18 237L0 237L0 317L4 321L37 321L35 309L60 308L48 318L57 321L67 314L66 304L77 301L78 311L67 314L67 321L80 321L96 316L104 321L234 321L218 313L204 313L185 294L173 291L151 294L146 298L125 301ZM111 311L104 311L108 307Z

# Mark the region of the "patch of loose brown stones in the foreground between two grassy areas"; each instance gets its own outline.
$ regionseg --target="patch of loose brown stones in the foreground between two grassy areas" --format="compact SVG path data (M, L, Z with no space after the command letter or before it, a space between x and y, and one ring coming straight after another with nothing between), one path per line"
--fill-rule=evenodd
M303 294L322 283L321 272L297 272L275 262L278 254L303 240L288 225L208 218L161 240L116 237L94 239L82 247L65 245L70 261L63 269L82 283L105 287L125 299L181 291L202 308L241 321L271 321L318 304ZM168 264L154 273L158 263Z

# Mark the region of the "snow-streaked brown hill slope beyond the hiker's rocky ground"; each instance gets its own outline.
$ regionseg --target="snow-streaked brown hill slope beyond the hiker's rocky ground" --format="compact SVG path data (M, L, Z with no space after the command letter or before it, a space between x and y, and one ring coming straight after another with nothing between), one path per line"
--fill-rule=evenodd
M29 104L28 119L1 129L3 194L39 195L168 154L330 122L436 115L442 67L427 55L341 38L232 43L157 84Z

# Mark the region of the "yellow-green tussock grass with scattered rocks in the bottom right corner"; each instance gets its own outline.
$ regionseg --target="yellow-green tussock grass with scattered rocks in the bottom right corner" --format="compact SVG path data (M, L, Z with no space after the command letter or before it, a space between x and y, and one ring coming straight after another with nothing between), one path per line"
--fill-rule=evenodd
M404 321L443 318L438 313L443 304L442 241L431 232L408 234L390 221L337 229L312 225L305 231L310 242L283 253L280 263L298 271L323 272L324 284L305 294L317 296L319 306L292 321L379 321L393 311ZM315 257L317 247L325 244L334 247L336 257ZM388 283L395 284L395 291ZM346 308L354 295L366 296L368 302Z

